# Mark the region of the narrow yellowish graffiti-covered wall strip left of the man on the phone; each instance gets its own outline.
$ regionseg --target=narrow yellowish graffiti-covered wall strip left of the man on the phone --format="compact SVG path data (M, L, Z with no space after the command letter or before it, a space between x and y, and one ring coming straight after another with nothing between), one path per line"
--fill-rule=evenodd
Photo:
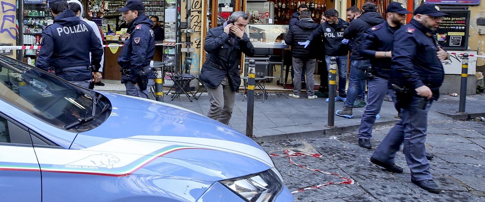
M190 41L192 42L192 48L196 51L192 53L192 66L190 72L200 73L200 54L201 54L201 34L202 34L202 0L192 0L190 5L190 29L193 33L190 34Z

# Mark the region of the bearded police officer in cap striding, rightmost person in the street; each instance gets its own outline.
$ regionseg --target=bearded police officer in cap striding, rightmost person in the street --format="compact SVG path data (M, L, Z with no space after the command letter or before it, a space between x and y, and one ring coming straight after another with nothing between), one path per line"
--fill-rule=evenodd
M393 96L401 108L401 118L382 140L370 161L386 170L402 173L394 164L401 143L411 170L411 182L432 192L440 193L429 172L425 157L427 115L432 100L438 99L444 79L444 69L433 31L438 29L442 17L448 16L434 4L423 4L414 11L411 22L394 34L392 66L389 84L395 89Z

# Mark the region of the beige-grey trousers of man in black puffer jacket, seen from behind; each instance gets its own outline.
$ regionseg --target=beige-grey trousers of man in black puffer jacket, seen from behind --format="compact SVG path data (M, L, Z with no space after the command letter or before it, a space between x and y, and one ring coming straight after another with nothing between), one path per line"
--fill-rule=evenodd
M293 58L293 69L295 70L295 77L293 77L293 94L300 95L302 90L302 72L305 73L304 67L307 70L307 94L308 96L315 95L313 92L313 87L315 85L315 79L313 78L313 72L315 71L315 65L317 60L315 59L301 59L301 58Z

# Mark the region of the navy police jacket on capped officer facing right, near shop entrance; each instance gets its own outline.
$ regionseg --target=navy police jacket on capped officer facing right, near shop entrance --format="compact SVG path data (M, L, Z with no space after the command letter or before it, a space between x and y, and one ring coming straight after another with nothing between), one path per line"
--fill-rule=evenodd
M138 75L143 68L150 66L150 61L155 55L155 37L152 30L153 21L145 14L140 14L128 25L130 36L125 40L125 46L121 49L118 64L124 70L130 70L129 75L121 79L121 83L127 80L136 83ZM145 72L148 78L155 78L153 71Z

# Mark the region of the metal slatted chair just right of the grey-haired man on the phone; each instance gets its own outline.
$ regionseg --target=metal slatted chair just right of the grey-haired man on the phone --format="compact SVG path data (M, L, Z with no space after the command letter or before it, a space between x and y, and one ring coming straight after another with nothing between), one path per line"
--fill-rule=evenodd
M269 58L245 58L244 62L244 67L245 67L245 74L246 76L241 77L243 79L244 83L244 91L243 91L243 102L244 102L244 96L247 93L248 89L248 65L250 60L255 60L256 65L263 65L264 70L263 72L261 69L256 68L256 77L255 77L255 87L258 87L261 91L263 91L263 103L264 99L268 97L268 94L266 93L266 79L269 77L266 76L268 73L268 66L269 66Z

